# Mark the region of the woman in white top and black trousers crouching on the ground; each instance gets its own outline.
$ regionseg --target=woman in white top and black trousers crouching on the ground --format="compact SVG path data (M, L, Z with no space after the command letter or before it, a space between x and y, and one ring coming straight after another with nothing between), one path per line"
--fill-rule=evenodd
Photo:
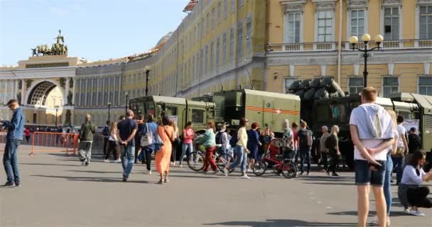
M402 180L398 188L398 196L406 214L425 216L420 212L419 207L432 207L432 200L426 197L429 194L429 188L420 186L421 182L428 182L432 179L432 170L425 173L422 168L425 161L426 153L418 151L411 155L409 162L404 168ZM411 206L411 210L408 209L409 205Z

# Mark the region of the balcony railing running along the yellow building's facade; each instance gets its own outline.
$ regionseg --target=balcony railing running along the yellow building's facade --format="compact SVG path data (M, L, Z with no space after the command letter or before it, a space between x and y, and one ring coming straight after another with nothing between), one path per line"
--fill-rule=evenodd
M372 40L369 42L370 47L376 46ZM414 49L414 48L432 48L432 40L385 40L381 46L384 50ZM357 48L365 48L365 43L361 41L356 44ZM342 42L342 49L350 50L349 42ZM338 50L338 42L326 43L271 43L267 45L267 52L303 52L303 51L332 51Z

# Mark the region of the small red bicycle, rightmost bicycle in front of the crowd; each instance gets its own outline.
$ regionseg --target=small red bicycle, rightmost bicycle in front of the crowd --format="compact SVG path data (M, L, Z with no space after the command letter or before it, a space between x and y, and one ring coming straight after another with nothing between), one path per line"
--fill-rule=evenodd
M281 141L275 139L271 141L267 152L263 155L262 159L259 160L253 167L252 171L254 175L261 176L264 175L269 165L275 165L276 174L282 174L286 178L296 177L297 175L297 165L294 162L294 158L289 158L293 150L283 150ZM282 151L282 154L280 152ZM295 154L293 155L295 156ZM288 158L287 158L288 157Z

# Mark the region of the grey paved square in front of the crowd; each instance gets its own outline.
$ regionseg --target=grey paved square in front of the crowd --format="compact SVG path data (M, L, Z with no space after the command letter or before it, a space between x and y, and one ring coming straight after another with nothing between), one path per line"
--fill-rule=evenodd
M0 188L0 226L357 226L352 172L248 180L173 167L171 182L159 185L140 164L125 183L120 164L95 157L85 167L77 157L28 150L21 146L18 157L23 187ZM406 216L394 203L393 211L392 226L432 226L431 210Z

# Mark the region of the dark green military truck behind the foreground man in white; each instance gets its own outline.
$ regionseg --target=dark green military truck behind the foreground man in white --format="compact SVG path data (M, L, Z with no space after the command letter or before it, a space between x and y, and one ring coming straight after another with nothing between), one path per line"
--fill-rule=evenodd
M353 167L354 145L350 138L350 114L352 109L361 104L360 95L354 94L339 98L319 99L313 102L311 128L315 139L319 141L321 126L338 125L340 128L340 150L345 156L348 167ZM394 94L392 98L378 98L377 104L385 109L392 109L404 116L406 123L419 130L422 148L432 150L432 96L421 94ZM315 143L318 145L318 143Z

